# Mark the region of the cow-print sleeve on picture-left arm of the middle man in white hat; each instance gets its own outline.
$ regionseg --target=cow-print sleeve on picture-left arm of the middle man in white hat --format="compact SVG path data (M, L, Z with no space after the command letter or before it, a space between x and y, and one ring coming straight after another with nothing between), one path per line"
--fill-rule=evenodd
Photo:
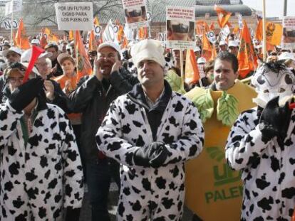
M133 146L122 138L120 117L123 115L121 109L123 105L120 105L119 99L120 97L110 104L110 109L96 134L96 144L106 156L114 158L123 165L135 167L133 154L140 147Z

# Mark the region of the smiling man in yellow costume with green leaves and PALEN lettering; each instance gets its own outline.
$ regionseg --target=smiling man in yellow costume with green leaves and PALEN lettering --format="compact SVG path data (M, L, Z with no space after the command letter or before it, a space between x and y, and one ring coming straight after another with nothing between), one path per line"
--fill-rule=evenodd
M237 80L238 60L223 51L214 63L214 82L208 89L195 87L185 94L200 112L205 128L204 151L186 164L187 207L194 220L236 221L240 217L243 185L239 171L232 171L224 158L229 131L239 113L255 107L254 88Z

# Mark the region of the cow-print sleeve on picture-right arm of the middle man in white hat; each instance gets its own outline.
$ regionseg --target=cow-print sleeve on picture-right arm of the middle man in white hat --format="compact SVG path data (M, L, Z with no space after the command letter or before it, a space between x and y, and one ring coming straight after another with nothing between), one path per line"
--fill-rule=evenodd
M197 107L190 103L185 110L181 134L177 141L166 144L169 157L166 163L178 163L187 161L200 154L204 144L204 129Z

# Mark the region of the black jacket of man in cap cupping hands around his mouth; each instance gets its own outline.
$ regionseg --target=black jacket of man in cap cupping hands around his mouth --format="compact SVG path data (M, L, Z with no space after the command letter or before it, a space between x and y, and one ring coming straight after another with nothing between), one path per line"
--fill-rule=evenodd
M100 82L95 75L82 77L76 90L69 98L74 112L82 113L81 147L87 161L98 159L98 147L95 143L95 134L98 131L110 103L120 95L132 90L138 83L137 77L127 70L112 72L108 82ZM108 87L108 88L104 88Z

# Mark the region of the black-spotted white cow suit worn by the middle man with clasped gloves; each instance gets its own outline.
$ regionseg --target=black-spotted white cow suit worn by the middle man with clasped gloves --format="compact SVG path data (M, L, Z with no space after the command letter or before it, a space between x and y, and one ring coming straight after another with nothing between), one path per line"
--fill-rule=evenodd
M110 105L98 134L98 148L121 163L118 220L181 220L185 197L185 161L202 151L204 130L197 108L172 92L152 139L145 108L128 95ZM169 151L164 166L135 166L133 154L153 141Z

